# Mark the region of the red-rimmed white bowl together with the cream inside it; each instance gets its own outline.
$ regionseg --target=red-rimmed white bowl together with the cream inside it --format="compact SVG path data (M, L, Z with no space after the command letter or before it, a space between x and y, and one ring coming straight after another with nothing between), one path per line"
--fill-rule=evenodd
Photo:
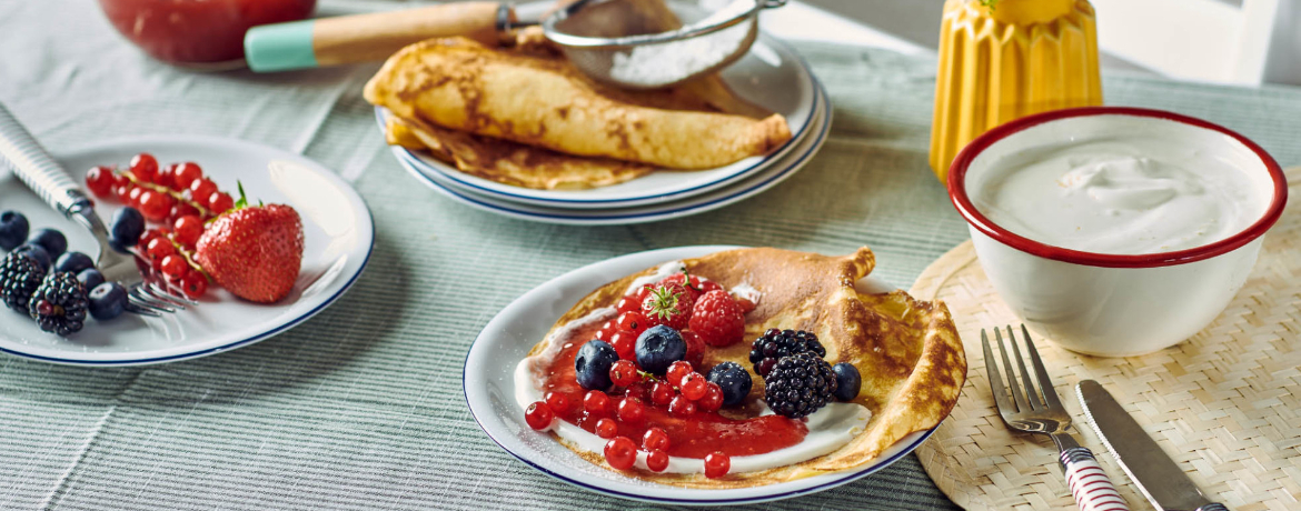
M1090 355L1196 334L1242 287L1283 212L1283 170L1246 138L1160 111L1047 112L973 140L948 174L994 289Z

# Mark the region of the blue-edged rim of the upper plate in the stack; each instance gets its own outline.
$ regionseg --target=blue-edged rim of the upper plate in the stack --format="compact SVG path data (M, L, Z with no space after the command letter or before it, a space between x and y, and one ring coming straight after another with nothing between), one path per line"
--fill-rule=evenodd
M790 44L786 44L785 42L782 42L779 39L775 39L775 38L774 39L766 39L766 40L764 40L764 43L765 44L781 46L790 55L795 56L796 61L800 64L800 68L804 69L804 73L809 77L809 82L812 82L812 85L813 85L813 101L812 103L816 105L817 101L821 100L821 98L826 95L826 91L824 91L824 88L821 86L821 82L817 79L817 75L813 74L813 68L809 68L809 64L808 64L807 60L804 60L804 56L801 56L799 52L796 52L795 48L792 48ZM384 124L385 124L385 113L384 112L385 112L384 107L375 107L375 118L376 118L376 122L379 122L381 131L384 130ZM474 183L474 182L466 179L463 176L459 176L461 174L459 170L455 170L455 169L451 169L450 172L449 170L444 170L442 168L438 168L436 165L429 164L428 161L424 161L423 159L420 159L419 156L416 156L411 150L409 150L406 147L394 146L393 151L394 152L401 152L401 153L403 153L403 156L411 159L411 161L414 163L414 165L416 168L428 168L428 169L432 169L433 172L438 173L440 176L444 176L444 177L446 177L446 178L449 178L451 181L455 181L457 183L459 183L462 186L477 190L479 192L483 192L484 195L500 198L502 200L527 202L527 203L531 203L531 204L535 204L535 205L541 205L541 207L563 207L563 204L609 204L611 208L618 208L618 207L622 207L622 205L627 205L627 203L637 203L637 204L647 203L647 204L652 204L652 203L671 202L671 200L678 199L678 198L684 198L684 196L690 196L690 195L696 195L699 192L721 189L723 186L727 186L727 185L735 183L738 181L742 181L747 176L762 170L764 164L766 164L769 161L773 161L774 159L781 159L781 157L787 156L787 151L794 144L796 144L800 140L800 138L809 130L809 125L812 124L812 121L813 121L813 118L812 118L812 116L809 116L809 120L807 122L804 122L804 126L800 129L799 133L794 134L790 140L786 140L786 143L783 143L781 147L778 147L775 151L773 151L769 157L764 157L762 160L756 161L753 165L749 165L747 168L743 168L743 169L736 169L735 172L732 172L732 173L730 173L727 176L722 176L718 179L710 181L708 183L700 183L700 185L692 186L690 189L674 190L674 191L670 191L670 192L658 194L658 195L645 195L645 196L636 196L636 198L627 198L627 199L552 199L552 198L539 198L539 196L528 196L528 195L511 194L511 192L507 192L507 191L488 189L488 187L484 187L483 185ZM701 191L701 189L708 189L708 190ZM548 204L548 203L550 203L550 204ZM632 205L628 205L628 207L632 207Z

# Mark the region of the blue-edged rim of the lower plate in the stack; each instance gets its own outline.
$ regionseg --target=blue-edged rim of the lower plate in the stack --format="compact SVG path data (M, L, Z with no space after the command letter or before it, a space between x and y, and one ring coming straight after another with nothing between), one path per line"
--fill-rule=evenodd
M821 88L821 83L820 82L816 82L816 83ZM566 222L571 222L571 224L576 224L576 225L605 222L605 221L618 221L618 220L650 222L650 221L658 221L658 220L669 220L669 218L673 218L675 216L703 213L705 211L710 211L713 208L719 207L719 205L717 205L719 203L727 203L727 202L734 200L736 198L743 198L743 196L748 196L748 195L753 195L753 194L761 192L761 191L766 190L768 187L771 187L771 186L779 183L781 181L783 181L785 178L790 177L796 170L801 169L804 166L804 164L811 157L813 157L813 155L817 153L817 150L821 148L822 143L826 139L827 133L830 133L830 130L831 130L831 118L830 118L831 109L830 109L830 103L826 103L826 107L827 107L826 108L826 113L825 113L826 118L824 120L822 127L820 129L820 131L816 135L817 138L813 140L813 146L811 147L809 151L807 151L805 153L800 155L794 161L791 161L787 165L786 169L782 169L781 172L778 172L778 173L768 177L766 179L758 182L755 186L747 187L745 190L742 190L739 192L727 195L725 198L718 198L716 200L710 200L710 202L703 203L703 204L693 204L693 205L687 205L687 207L682 207L682 208L677 208L677 209L661 209L661 211L656 211L656 212L650 212L650 213L608 215L608 216L572 216L572 215L549 215L549 213L522 212L522 211L518 211L518 209L511 209L511 208L506 208L506 207L502 207L502 205L485 203L483 200L479 200L479 199L475 199L475 198L471 198L471 196L466 196L464 194L462 194L459 191L451 190L451 189L444 186L442 183L438 183L438 182L433 181L433 178L431 178L428 176L424 176L424 173L422 173L419 169L416 169L412 165L412 163L410 161L409 157L403 157L396 150L394 150L394 153L399 156L398 161L402 164L402 166L407 172L410 172L411 174L414 174L416 178L419 178L420 181L424 181L425 185L429 185L429 186L435 187L435 190L441 191L441 192L449 195L451 199L454 199L457 202L470 203L470 205L474 205L474 207L477 207L477 208L483 208L483 209L488 209L490 212L502 213L502 215L516 217L516 218L520 218L520 220L535 220L535 221L536 220L543 220L543 221L546 221L546 220L559 220L559 221L566 221Z

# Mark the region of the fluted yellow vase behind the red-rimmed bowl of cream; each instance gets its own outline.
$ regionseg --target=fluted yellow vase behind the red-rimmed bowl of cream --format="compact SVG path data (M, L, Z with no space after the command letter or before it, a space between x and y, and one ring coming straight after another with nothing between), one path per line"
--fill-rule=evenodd
M941 181L968 142L1032 113L1102 104L1088 0L945 3L930 168Z

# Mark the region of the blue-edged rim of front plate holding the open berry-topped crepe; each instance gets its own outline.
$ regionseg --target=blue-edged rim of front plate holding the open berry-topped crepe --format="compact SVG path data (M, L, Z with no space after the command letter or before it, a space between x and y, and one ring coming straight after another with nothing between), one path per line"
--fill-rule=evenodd
M677 248L677 247L670 247L670 248ZM658 248L658 250L666 250L666 248ZM628 254L628 255L631 255L631 254ZM575 268L575 270L576 269L582 269L582 267L580 268ZM569 274L569 272L562 273L562 274L554 277L553 280L561 278L561 277L563 277L566 274ZM541 283L540 286L544 286L544 285L546 285L546 282ZM475 335L475 341L474 341L475 343L479 342L479 337L480 335L483 335L483 332L480 332L479 335ZM471 343L471 350L472 348L474 348L474 343ZM799 489L799 490L791 490L791 491L769 494L769 495L742 497L742 498L729 498L729 499L691 499L691 498L648 497L648 495L644 495L644 494L632 494L632 493L610 490L610 489L606 489L606 488L602 488L602 486L591 485L591 484L582 482L582 481L578 481L578 480L571 478L571 477L566 477L563 475L559 475L557 472L546 469L545 467L543 467L543 465L540 465L537 463L533 463L533 462L528 460L527 458L524 458L523 455L520 455L520 454L510 450L509 447L506 447L505 443L502 443L501 441L498 441L497 437L494 437L492 434L492 432L489 432L488 428L484 426L484 423L481 420L479 420L479 415L475 413L475 407L470 403L470 393L468 393L468 389L467 389L468 382L466 381L466 373L467 373L467 371L470 371L470 350L466 350L466 361L461 365L461 395L466 399L466 408L470 410L470 416L475 419L475 424L477 424L479 429L481 429L484 432L484 434L487 434L488 438L490 438L493 441L493 443L496 443L498 447L501 447L501 450L503 450L506 452L510 452L510 455L515 456L515 459L518 459L520 462L524 462L524 464L527 464L530 467L533 467L539 472L541 472L541 473L544 473L546 476L550 476L552 478L559 480L562 482L569 482L571 485L583 488L583 489L585 489L588 491L593 491L593 493L598 493L598 494L604 494L604 495L610 495L610 497L626 498L626 499L630 499L630 501L639 501L639 502L654 502L654 503L669 503L669 504L700 504L700 506L710 506L710 504L744 504L744 503L760 503L760 502L782 501L782 499L787 499L787 498L795 498L795 497L814 494L814 493L818 493L818 491L829 490L829 489L833 489L833 488L837 488L837 486L842 486L842 485L857 481L857 480L860 480L863 477L870 476L873 473L877 473L877 472L885 469L886 467L892 465L895 462L899 460L899 458L907 456L907 455L912 454L912 451L917 450L917 447L921 446L921 442L925 442L926 438L930 438L930 436L935 434L935 430L939 429L939 424L937 424L937 425L932 426L930 429L928 429L925 433L922 433L920 437L917 437L917 439L915 439L912 443L904 446L903 450L900 450L899 452L895 452L890 458L879 460L879 463L876 463L872 467L868 467L868 468L865 468L863 471L848 472L848 473L844 475L844 477L837 478L834 481L827 481L827 482L820 484L817 486L809 486L809 488L804 488L804 489ZM948 417L945 417L945 419L948 419ZM941 424L942 423L943 423L943 420L941 420Z

